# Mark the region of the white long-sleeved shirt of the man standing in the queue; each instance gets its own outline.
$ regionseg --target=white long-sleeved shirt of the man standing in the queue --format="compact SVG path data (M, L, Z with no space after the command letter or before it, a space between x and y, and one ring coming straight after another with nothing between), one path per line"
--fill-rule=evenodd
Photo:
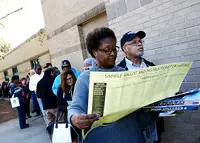
M41 74L34 74L31 76L30 81L29 81L29 89L30 91L35 91L37 90L37 84L38 82L43 78L44 72L41 72Z

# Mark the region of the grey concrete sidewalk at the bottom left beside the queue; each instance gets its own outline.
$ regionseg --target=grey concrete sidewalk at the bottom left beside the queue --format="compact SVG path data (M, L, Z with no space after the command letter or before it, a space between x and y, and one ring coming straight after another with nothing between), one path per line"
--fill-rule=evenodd
M30 127L23 130L18 119L0 124L0 143L50 143L43 118L32 117L27 123Z

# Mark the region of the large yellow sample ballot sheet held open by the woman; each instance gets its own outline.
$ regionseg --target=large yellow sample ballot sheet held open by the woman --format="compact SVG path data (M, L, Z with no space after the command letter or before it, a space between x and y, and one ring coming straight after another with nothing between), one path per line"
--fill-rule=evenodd
M91 72L88 114L100 115L92 128L174 96L191 65L184 62L124 72Z

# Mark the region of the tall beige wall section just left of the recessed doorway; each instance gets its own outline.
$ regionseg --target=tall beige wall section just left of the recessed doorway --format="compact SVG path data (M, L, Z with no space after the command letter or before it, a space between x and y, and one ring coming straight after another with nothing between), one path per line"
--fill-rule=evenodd
M70 60L72 67L83 70L84 43L81 25L105 12L103 0L48 0L41 1L50 45L50 57L54 66L62 60Z

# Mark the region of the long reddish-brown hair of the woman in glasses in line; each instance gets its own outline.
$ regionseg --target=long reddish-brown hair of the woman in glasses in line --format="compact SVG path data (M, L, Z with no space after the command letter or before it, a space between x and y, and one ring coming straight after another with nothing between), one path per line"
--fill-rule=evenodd
M66 83L66 78L68 75L71 75L72 76L72 79L74 81L74 84L73 86L75 85L76 83L76 76L74 75L74 72L72 70L66 70L64 71L62 74L61 74L61 87L62 87L62 90L67 93L69 92L69 90L71 89L71 87Z

